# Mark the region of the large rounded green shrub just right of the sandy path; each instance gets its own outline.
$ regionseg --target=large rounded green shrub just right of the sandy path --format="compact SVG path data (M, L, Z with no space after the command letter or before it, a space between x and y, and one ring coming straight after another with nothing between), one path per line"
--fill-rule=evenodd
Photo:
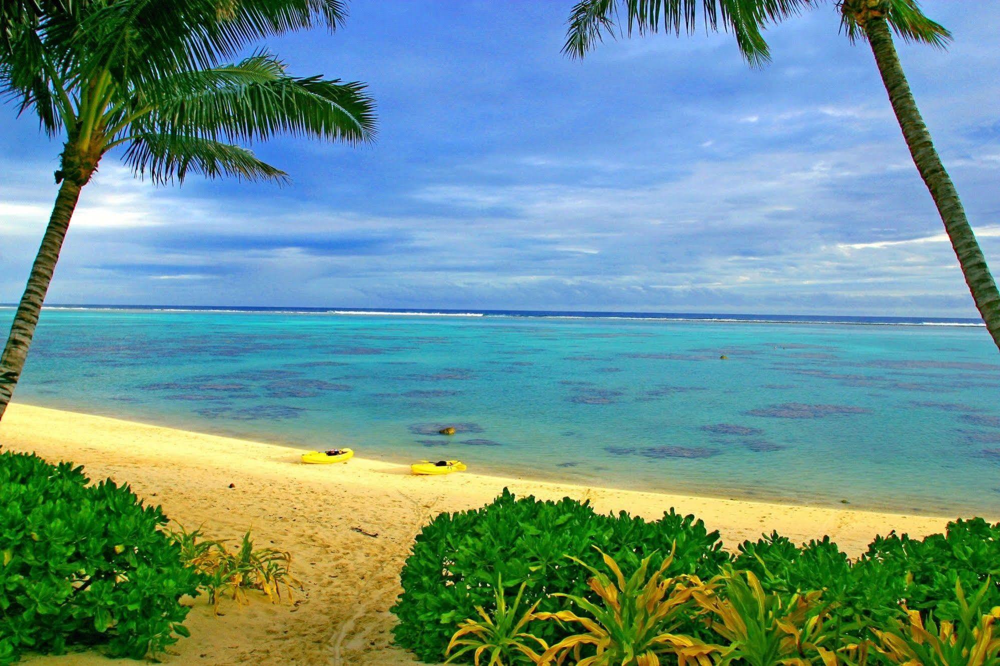
M671 576L711 576L729 561L719 533L708 532L694 516L671 510L649 522L624 512L600 515L589 503L569 498L515 499L504 489L483 508L440 514L417 535L400 573L403 594L393 608L399 619L396 642L421 659L440 661L459 622L475 617L476 606L495 607L496 580L510 589L524 583L525 599L540 600L539 611L557 612L569 602L553 593L595 598L587 571L566 555L599 566L597 546L623 568L636 569L645 557L659 567L674 543L674 561L666 572ZM687 633L703 631L700 624L689 625ZM543 623L537 635L551 645L569 630Z

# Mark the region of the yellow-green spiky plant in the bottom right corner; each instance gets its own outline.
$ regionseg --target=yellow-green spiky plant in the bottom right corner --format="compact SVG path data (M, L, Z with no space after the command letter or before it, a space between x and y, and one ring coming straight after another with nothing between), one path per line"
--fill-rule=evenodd
M997 666L1000 664L1000 638L994 625L1000 606L985 611L990 586L987 580L972 597L965 598L962 583L955 582L959 617L956 621L924 621L920 613L906 609L908 623L897 621L885 631L874 630L878 654L890 664L940 664L941 666Z

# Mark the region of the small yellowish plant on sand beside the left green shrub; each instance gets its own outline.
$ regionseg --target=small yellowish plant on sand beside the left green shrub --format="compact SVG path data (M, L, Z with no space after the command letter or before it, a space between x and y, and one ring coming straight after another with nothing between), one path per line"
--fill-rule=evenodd
M243 535L237 548L226 547L225 539L207 539L201 528L187 531L183 526L168 532L180 545L182 561L202 578L201 588L208 593L213 611L227 592L233 599L245 603L246 590L259 590L271 603L279 603L282 587L290 600L292 588L302 585L291 572L292 556L278 548L254 548L250 532Z

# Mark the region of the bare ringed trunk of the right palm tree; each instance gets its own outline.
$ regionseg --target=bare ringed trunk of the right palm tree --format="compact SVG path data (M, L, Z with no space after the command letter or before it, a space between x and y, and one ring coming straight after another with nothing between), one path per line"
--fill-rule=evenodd
M979 314L986 322L986 329L1000 348L1000 292L997 292L996 283L986 265L986 257L965 217L965 209L955 191L955 184L945 171L941 157L934 149L930 132L917 109L910 84L906 81L903 66L896 53L896 46L892 42L889 25L884 16L878 16L866 21L864 29L882 75L882 83L889 93L892 110L896 113L896 120L899 121L906 145L913 156L913 163L917 165L917 171L934 198L934 204L965 275L965 282L969 285Z

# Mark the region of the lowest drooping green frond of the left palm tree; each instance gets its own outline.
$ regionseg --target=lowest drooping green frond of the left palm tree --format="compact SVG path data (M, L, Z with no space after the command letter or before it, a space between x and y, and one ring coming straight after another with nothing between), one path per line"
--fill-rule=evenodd
M181 183L190 172L208 178L288 180L288 174L257 159L246 148L197 136L137 135L132 137L124 160L137 176L148 175L155 184Z

